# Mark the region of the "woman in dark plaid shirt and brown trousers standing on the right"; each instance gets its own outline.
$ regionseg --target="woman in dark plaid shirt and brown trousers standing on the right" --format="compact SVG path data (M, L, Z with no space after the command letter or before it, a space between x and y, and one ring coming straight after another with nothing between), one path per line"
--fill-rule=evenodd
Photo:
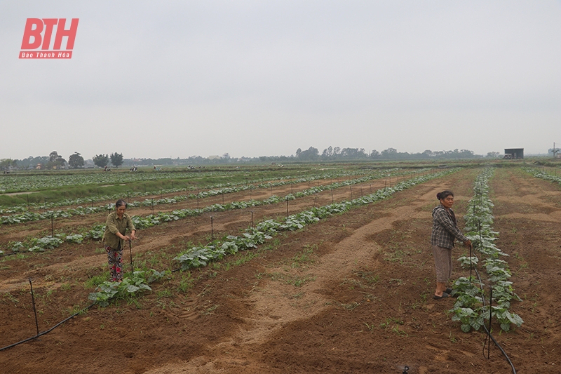
M452 276L452 248L454 239L464 242L471 248L471 241L460 231L456 222L456 215L452 211L454 194L452 191L442 191L436 194L440 205L433 209L433 246L434 263L436 267L436 290L433 298L440 300L450 298L452 288L447 283Z

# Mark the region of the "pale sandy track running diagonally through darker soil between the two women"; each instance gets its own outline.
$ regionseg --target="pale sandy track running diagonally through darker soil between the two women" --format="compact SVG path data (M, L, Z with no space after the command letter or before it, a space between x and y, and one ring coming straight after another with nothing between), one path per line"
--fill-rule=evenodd
M442 185L431 187L430 191L419 196L410 205L393 208L384 216L353 230L342 241L330 244L330 252L310 261L309 265L283 264L268 267L264 277L271 281L253 287L248 295L247 302L252 305L252 314L245 319L245 328L212 347L209 356L196 357L187 363L156 368L147 373L236 373L241 367L244 373L264 373L271 370L264 362L260 347L283 326L310 319L330 308L332 298L325 289L326 285L346 279L357 264L370 263L374 267L379 265L377 262L372 264L372 258L381 251L377 243L369 240L372 234L389 230L396 222L404 219L429 220L430 212L422 211L422 208L427 203L432 203L435 194L445 188ZM312 281L304 283L295 293L294 286L286 282L279 283L277 278ZM202 367L201 363L204 363Z

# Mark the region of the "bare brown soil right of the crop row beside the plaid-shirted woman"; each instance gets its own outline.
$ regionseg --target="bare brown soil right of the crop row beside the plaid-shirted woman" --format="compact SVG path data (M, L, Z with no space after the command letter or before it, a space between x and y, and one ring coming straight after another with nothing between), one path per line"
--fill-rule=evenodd
M513 353L522 361L519 373L555 372L555 366L561 365L561 296L550 289L561 276L561 190L517 169L498 169L492 199L497 201L499 246L511 255L511 280L524 300L516 305L525 321L515 333L521 338Z

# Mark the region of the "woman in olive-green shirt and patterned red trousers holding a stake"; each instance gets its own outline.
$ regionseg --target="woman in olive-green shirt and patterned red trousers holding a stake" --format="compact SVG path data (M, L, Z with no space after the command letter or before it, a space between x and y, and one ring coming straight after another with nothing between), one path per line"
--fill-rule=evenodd
M127 203L123 199L115 203L115 211L107 215L105 232L102 243L104 243L109 267L111 269L111 281L123 281L123 247L126 241L135 240L135 226L130 215L126 212ZM125 235L129 232L128 235Z

